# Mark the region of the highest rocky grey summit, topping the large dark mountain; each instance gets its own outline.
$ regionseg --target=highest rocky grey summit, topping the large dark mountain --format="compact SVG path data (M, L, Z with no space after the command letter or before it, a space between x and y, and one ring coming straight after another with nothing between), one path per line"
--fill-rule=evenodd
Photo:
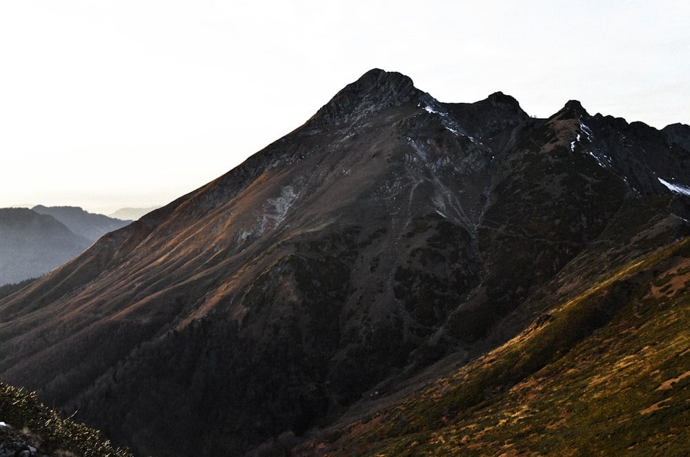
M345 124L391 106L400 106L422 92L399 72L373 68L348 84L308 121L310 127Z

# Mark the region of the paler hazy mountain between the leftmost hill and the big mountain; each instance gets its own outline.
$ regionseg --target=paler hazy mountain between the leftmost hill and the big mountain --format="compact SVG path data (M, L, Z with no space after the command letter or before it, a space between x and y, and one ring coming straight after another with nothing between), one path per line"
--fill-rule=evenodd
M43 206L32 208L39 214L48 214L59 220L77 235L96 241L103 234L122 228L132 222L119 220L102 214L88 213L78 206Z

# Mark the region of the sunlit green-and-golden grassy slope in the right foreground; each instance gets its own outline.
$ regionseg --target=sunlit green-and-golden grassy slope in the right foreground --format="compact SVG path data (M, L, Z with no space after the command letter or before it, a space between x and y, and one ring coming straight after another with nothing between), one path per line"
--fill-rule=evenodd
M684 456L690 238L571 280L515 338L293 455Z

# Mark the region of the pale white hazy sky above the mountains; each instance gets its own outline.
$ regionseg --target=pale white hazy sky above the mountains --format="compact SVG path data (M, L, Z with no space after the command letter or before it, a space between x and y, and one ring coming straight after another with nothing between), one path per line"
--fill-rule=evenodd
M0 0L0 207L165 204L371 68L690 124L690 2Z

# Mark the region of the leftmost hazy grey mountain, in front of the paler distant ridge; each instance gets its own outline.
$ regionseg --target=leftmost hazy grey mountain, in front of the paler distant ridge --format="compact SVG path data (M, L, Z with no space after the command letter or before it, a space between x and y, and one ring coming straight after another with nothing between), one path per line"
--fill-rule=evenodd
M50 215L0 208L0 285L48 273L90 244Z

